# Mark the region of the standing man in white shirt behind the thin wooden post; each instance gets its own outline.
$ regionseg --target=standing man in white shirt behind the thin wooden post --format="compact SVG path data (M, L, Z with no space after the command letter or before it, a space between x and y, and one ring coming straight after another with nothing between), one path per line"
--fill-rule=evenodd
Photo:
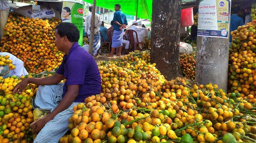
M93 6L89 7L89 11L91 12L91 9L93 8ZM93 55L99 55L100 53L100 25L101 25L102 21L100 18L100 15L95 13L95 23L94 23L94 40L93 40ZM89 37L89 41L90 41L90 27L91 27L91 13L88 14L85 17L85 33L86 33L86 37L88 35Z

